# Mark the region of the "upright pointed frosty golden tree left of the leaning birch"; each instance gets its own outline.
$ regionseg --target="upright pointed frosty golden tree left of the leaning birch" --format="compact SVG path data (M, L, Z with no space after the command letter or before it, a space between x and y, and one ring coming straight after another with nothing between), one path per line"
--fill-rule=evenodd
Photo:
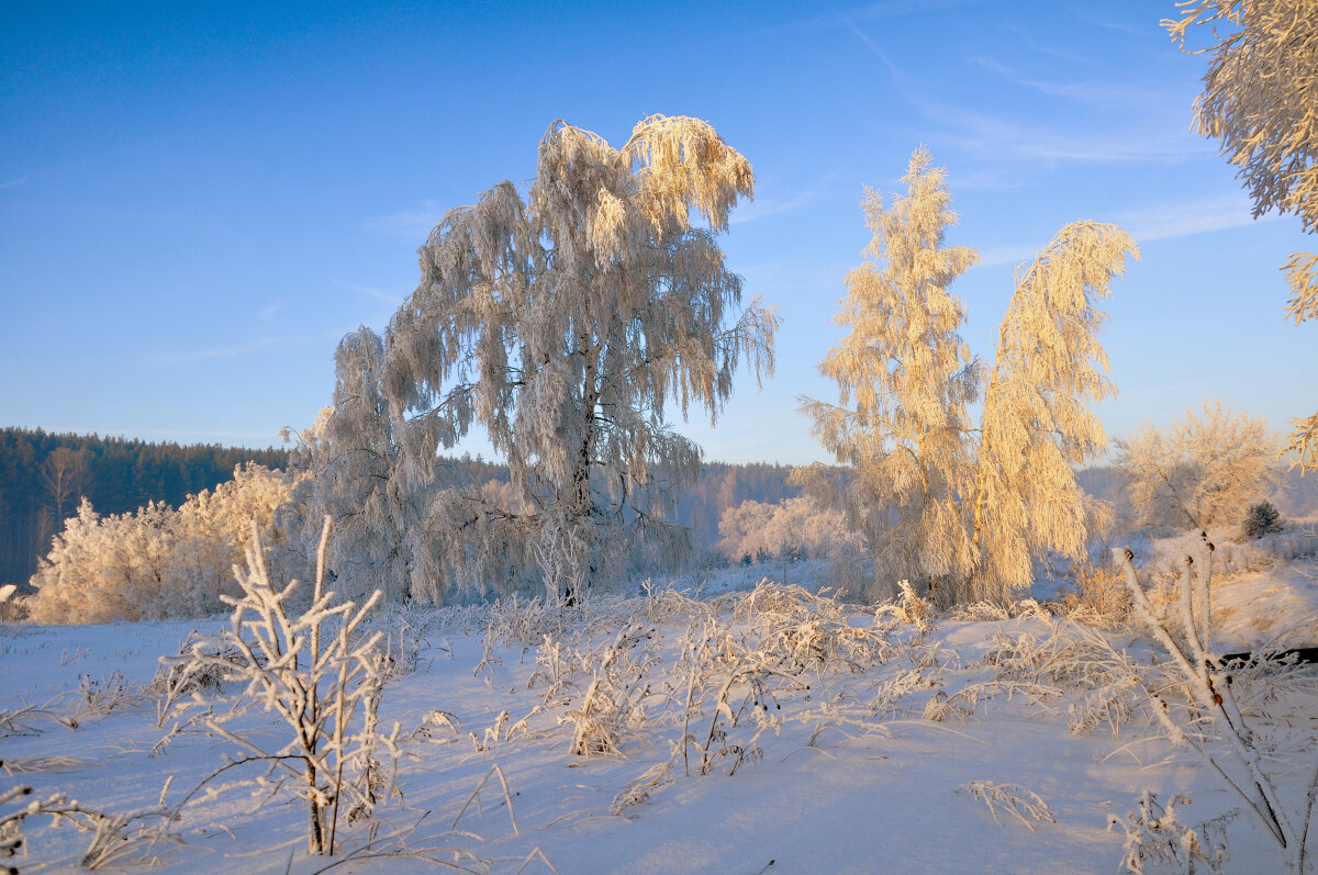
M948 286L979 257L945 244L957 220L945 175L921 146L903 177L905 195L890 208L867 190L869 261L847 274L833 318L850 332L820 365L841 402L800 399L812 432L846 469L803 468L796 482L846 509L871 544L875 576L892 581L963 579L977 561L966 407L979 362L961 340L965 306Z

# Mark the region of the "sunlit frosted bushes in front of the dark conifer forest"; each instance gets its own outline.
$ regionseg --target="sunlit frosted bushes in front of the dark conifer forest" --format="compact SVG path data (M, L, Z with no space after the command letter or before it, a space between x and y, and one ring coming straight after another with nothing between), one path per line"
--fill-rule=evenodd
M29 617L101 623L217 613L221 596L239 592L233 567L252 543L252 521L269 532L290 492L285 474L246 465L178 510L156 502L101 517L83 499L38 561Z

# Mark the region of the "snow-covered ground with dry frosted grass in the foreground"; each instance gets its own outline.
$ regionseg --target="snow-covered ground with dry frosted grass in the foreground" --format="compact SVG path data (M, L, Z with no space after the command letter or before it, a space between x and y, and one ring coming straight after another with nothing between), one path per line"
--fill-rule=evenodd
M937 617L921 633L911 604L876 617L816 598L807 590L824 582L820 568L789 569L807 589L747 592L757 571L687 581L701 585L701 602L664 590L597 597L561 627L507 606L390 614L381 625L415 650L381 716L401 725L407 756L376 818L340 826L339 858L306 855L304 803L286 787L202 793L166 830L177 841L130 850L158 858L162 872L307 874L345 855L330 871L440 867L431 858L563 875L1112 872L1124 832L1108 818L1127 817L1143 791L1164 803L1186 795L1177 820L1191 826L1242 806L1197 754L1165 738L1131 681L1162 676L1147 636L1029 605L1012 617ZM1318 582L1306 572L1311 563L1292 563L1218 582L1223 648L1318 644ZM0 792L22 783L29 799L63 792L108 814L177 806L236 750L191 731L159 745L175 718L158 713L148 685L194 629L223 626L0 627ZM1318 683L1290 669L1236 687L1298 810ZM29 705L37 710L16 713ZM275 746L286 731L261 713L241 726ZM992 785L994 809L975 792ZM1019 816L1008 792L1023 800ZM1050 820L1027 810L1029 793ZM74 868L92 839L45 816L24 833L9 861L24 872ZM1226 837L1224 871L1280 870L1251 812Z

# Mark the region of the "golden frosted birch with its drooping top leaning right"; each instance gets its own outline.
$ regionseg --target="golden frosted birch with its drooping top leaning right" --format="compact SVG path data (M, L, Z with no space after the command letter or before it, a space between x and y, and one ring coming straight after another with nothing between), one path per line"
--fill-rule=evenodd
M1115 225L1062 228L1024 273L998 337L985 391L974 501L978 597L1029 585L1032 557L1081 559L1093 502L1075 484L1107 445L1091 402L1116 394L1098 331L1135 241Z

